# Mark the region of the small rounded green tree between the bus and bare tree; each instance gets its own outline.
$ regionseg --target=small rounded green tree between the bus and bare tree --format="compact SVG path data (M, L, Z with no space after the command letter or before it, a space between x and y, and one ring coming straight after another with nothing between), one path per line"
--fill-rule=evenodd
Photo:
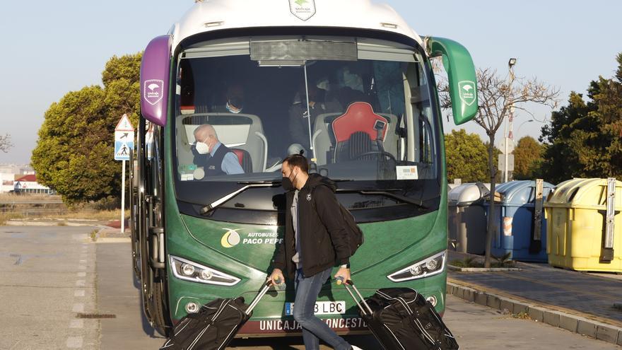
M486 144L477 134L467 134L464 129L452 130L445 135L447 153L447 179L462 182L486 182L488 156Z

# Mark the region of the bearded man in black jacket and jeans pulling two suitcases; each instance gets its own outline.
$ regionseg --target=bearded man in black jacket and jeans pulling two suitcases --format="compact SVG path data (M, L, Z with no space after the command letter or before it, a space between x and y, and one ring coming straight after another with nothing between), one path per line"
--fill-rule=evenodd
M282 283L283 271L295 282L294 319L303 327L306 350L318 350L319 339L336 350L358 349L315 317L315 302L332 268L335 278L350 279L348 233L335 197L334 182L308 173L307 158L288 156L281 168L286 189L285 239L274 258L270 279Z

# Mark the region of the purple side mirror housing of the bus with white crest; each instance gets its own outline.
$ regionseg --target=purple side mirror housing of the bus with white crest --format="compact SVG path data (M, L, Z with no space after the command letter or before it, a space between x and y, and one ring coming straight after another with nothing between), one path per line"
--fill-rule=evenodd
M141 113L150 122L166 124L170 78L170 35L149 42L141 63Z

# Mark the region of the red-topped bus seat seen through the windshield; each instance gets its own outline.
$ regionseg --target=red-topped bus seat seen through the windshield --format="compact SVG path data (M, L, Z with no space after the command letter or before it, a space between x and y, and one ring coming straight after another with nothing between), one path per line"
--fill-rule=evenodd
M387 118L375 114L369 103L351 104L346 113L332 123L336 141L335 163L355 160L362 153L380 151L376 141L378 132L380 141L385 141L388 124Z

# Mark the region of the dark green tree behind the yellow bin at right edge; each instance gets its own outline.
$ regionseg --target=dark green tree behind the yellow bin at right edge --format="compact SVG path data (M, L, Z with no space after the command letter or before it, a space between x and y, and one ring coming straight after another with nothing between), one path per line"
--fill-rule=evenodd
M587 102L581 94L570 93L568 105L553 112L551 124L542 128L542 171L547 180L622 179L622 54L616 59L614 78L592 81Z

